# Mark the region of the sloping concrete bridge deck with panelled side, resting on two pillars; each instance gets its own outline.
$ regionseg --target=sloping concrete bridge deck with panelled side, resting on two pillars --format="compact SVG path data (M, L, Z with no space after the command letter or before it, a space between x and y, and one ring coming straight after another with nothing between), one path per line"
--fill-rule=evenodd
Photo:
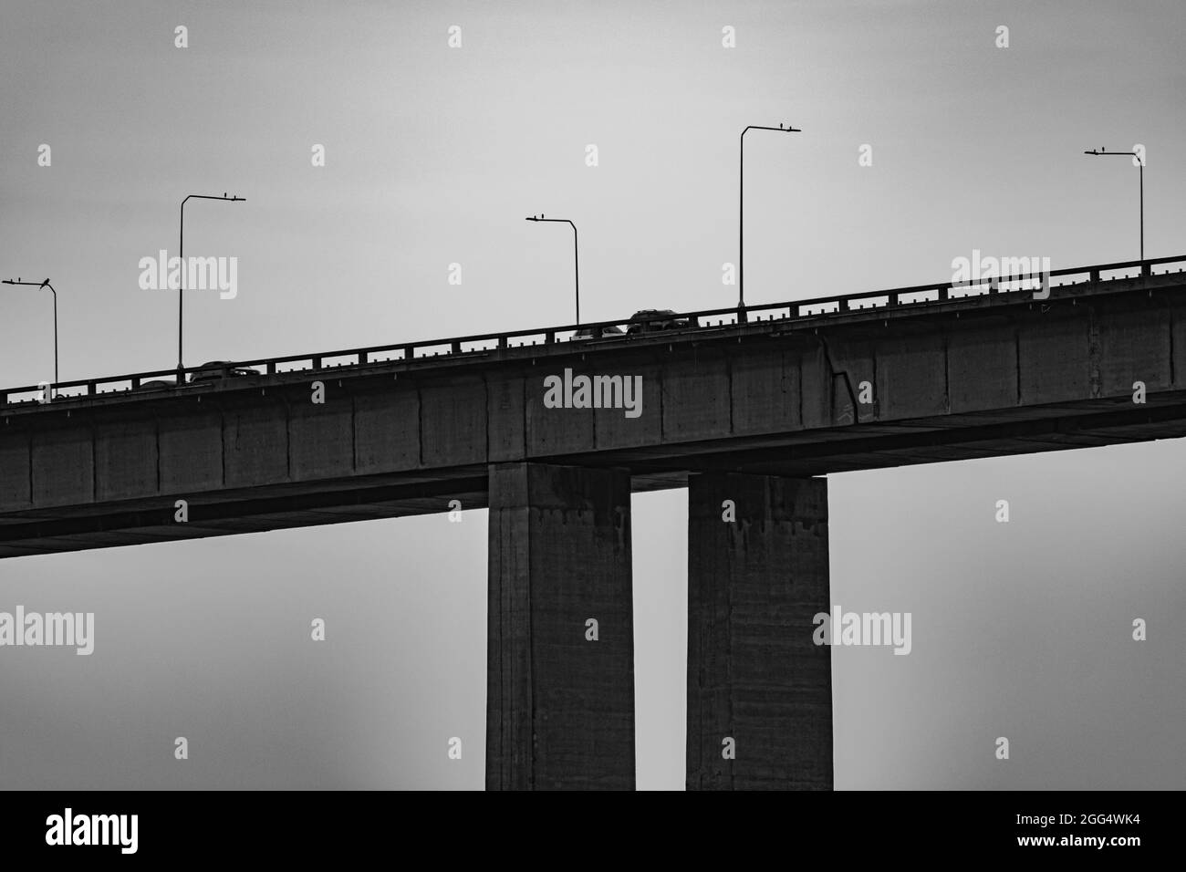
M129 389L162 374L70 382L51 403L0 392L0 556L486 507L495 463L624 469L651 490L697 471L802 477L1186 435L1182 266L1058 270L1082 280L1047 300L920 286L753 307L748 323L694 313L670 333L464 337L172 389ZM642 376L642 414L546 408L543 380L565 369Z

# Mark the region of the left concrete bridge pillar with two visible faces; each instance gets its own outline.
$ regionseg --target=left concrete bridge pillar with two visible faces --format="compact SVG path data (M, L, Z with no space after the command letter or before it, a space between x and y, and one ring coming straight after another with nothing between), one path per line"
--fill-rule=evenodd
M486 789L633 789L629 475L491 465L489 555Z

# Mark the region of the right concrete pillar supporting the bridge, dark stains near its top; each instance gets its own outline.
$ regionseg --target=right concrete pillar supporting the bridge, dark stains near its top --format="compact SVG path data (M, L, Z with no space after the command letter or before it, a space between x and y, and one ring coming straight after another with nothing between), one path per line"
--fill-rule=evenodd
M689 478L689 790L831 789L828 610L825 479Z

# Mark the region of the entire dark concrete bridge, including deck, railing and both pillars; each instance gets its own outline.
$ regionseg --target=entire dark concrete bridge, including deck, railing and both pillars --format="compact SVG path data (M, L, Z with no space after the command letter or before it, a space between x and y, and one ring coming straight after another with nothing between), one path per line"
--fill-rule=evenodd
M630 494L687 488L687 785L830 789L821 476L1186 435L1184 267L8 388L0 558L489 508L487 788L632 788Z

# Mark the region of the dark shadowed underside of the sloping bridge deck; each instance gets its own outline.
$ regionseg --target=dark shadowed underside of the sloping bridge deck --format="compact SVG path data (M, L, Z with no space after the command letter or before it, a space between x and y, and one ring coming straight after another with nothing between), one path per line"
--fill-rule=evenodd
M633 492L686 488L696 472L810 477L1186 437L1186 392L995 413L859 424L810 433L703 440L680 446L541 458L562 466L624 469ZM433 475L391 473L301 484L178 494L0 515L0 558L240 535L489 508L484 465Z

